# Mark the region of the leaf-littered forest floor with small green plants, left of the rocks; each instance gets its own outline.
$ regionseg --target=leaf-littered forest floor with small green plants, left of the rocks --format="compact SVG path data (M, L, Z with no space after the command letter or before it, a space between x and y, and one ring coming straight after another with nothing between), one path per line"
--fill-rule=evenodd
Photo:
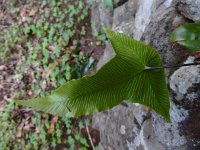
M91 127L91 116L69 119L13 103L45 96L94 70L105 36L92 32L90 5L73 0L0 2L1 149L98 145L99 132Z

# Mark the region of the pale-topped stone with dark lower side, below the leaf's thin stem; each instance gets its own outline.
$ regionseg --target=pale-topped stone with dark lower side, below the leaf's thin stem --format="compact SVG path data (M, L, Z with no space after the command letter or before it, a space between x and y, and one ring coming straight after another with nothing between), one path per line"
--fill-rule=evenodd
M185 63L193 63L194 57L188 57ZM179 110L174 113L181 116L180 132L192 141L192 147L200 148L200 66L186 66L177 69L170 77L170 88ZM177 106L176 105L176 106ZM172 114L174 117L175 115ZM175 117L176 118L176 117Z

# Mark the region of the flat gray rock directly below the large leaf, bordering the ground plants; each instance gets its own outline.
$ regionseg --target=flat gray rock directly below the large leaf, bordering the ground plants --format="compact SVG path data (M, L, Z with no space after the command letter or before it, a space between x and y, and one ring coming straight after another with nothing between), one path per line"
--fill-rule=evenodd
M99 149L126 150L133 146L131 143L136 140L141 128L134 118L134 108L134 105L127 103L127 107L119 105L94 116L93 126L100 130ZM140 143L134 147L143 150Z

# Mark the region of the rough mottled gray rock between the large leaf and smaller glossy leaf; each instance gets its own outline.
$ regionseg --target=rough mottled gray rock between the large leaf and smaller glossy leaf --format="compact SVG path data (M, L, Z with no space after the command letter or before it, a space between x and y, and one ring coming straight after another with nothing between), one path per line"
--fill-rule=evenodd
M172 66L188 54L177 45L170 44L170 34L180 22L185 22L185 19L176 14L174 7L166 7L164 4L156 7L141 40L158 51L166 66ZM171 71L166 72L168 77Z

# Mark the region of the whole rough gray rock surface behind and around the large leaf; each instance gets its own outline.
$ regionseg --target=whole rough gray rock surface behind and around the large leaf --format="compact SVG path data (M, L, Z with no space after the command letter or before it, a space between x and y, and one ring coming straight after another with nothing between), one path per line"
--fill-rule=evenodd
M106 20L109 22L106 27L155 48L166 65L194 61L182 47L172 45L169 37L181 24L200 21L200 0L116 0L115 3L116 7L109 11L103 7L103 0L94 3L92 18L98 25L97 31L101 30L99 22L105 25ZM107 44L97 69L113 56L112 47ZM101 134L100 150L200 149L200 66L167 70L166 77L172 122L166 122L142 105L121 104L93 117L93 126Z

